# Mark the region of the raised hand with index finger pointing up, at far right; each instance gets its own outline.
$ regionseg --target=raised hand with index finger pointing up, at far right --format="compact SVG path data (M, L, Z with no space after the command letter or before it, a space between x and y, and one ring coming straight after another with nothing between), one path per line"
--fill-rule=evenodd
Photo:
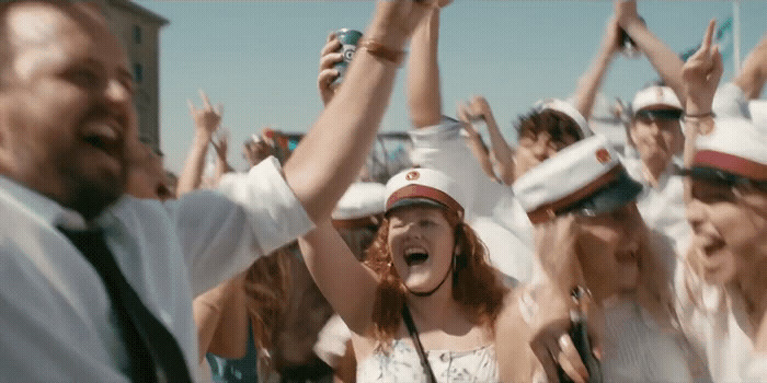
M713 95L724 71L719 46L711 45L714 26L716 20L711 20L700 48L682 67L687 115L705 115L711 112Z

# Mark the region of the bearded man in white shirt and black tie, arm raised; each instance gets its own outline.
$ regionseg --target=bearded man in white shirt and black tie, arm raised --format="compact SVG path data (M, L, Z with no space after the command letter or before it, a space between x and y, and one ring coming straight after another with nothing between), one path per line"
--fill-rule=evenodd
M162 205L123 195L133 81L101 12L1 3L0 381L195 380L193 297L330 216L427 7L376 5L346 84L285 166Z

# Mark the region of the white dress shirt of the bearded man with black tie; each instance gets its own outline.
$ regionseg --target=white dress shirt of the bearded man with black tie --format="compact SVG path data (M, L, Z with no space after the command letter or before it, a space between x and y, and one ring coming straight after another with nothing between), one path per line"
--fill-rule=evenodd
M192 299L313 228L274 159L222 192L164 205L126 196L90 223L104 230L121 270L175 337L193 376ZM127 382L127 351L103 282L57 225L87 222L0 177L0 381Z

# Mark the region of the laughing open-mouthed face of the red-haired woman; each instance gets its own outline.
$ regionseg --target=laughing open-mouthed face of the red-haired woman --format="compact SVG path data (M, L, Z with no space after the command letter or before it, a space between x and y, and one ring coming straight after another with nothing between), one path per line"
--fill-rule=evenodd
M439 208L394 209L389 213L387 243L397 274L412 292L432 291L450 271L454 228Z

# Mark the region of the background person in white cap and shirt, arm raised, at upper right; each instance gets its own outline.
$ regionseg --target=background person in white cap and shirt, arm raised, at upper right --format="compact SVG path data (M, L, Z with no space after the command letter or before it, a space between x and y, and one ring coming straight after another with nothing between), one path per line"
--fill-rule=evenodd
M648 28L637 12L636 1L615 0L614 9L618 26L648 57L662 80L638 91L630 104L627 143L629 152L638 155L627 154L623 163L629 174L644 185L637 197L644 222L682 254L690 235L685 220L683 183L676 176L684 146L680 125L684 62ZM669 256L666 263L673 266L675 256Z

